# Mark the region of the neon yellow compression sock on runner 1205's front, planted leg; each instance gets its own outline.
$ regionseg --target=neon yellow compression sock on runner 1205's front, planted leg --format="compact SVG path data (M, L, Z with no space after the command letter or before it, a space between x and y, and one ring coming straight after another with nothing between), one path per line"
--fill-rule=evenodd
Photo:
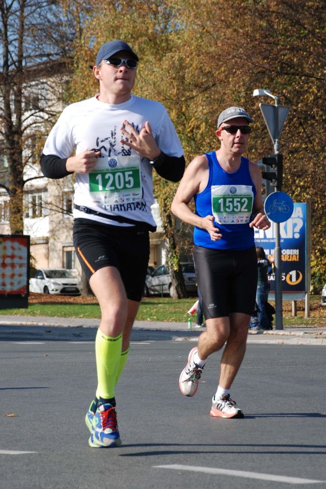
M96 397L110 399L114 397L117 373L121 358L122 334L116 337L106 336L97 330L95 355L97 368Z

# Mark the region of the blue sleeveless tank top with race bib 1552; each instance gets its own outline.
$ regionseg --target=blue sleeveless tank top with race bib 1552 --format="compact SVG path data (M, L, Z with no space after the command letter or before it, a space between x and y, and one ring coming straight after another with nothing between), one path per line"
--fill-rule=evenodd
M236 172L227 173L220 166L215 151L206 153L208 160L208 183L194 196L196 214L202 218L214 215L214 224L223 237L212 241L205 229L194 228L194 243L203 248L216 250L248 250L255 244L252 206L256 187L249 172L249 159L241 156Z

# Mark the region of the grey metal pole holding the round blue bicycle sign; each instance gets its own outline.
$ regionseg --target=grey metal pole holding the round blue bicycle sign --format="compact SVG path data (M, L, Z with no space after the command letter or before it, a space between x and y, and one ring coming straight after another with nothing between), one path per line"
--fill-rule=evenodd
M279 97L275 97L275 130L279 127ZM274 140L274 151L279 153L280 142ZM275 192L277 189L275 188ZM280 244L280 223L275 223L275 329L283 330L283 307L282 307L282 253Z

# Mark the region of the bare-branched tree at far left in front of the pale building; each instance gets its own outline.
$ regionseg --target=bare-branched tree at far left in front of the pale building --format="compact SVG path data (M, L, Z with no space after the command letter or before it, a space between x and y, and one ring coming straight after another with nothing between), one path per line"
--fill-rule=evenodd
M52 0L0 0L0 148L8 177L11 233L23 233L23 188L35 170L44 135L58 114L78 22ZM30 167L30 168L29 168Z

